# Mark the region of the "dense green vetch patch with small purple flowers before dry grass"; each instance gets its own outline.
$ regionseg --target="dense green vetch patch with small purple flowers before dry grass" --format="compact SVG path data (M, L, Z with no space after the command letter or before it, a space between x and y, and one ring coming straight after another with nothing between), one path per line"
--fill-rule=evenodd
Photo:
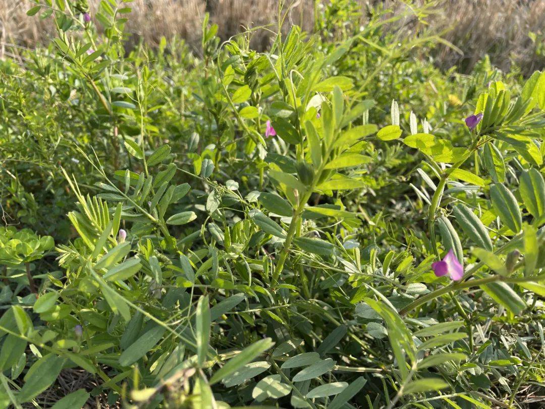
M126 51L128 4L0 65L0 406L536 407L545 73L346 1Z

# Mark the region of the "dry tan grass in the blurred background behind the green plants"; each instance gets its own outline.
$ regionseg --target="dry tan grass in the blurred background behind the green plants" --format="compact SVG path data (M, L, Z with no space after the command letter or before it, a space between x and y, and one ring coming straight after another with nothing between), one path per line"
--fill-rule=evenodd
M364 3L373 3L372 0L359 1L362 7ZM98 0L89 3L94 9ZM288 0L287 3L292 4L292 8L284 28L298 24L311 31L314 0ZM400 4L395 0L375 0L374 3L395 8ZM3 44L33 46L49 38L51 19L40 21L37 16L26 16L30 4L28 0L0 0ZM153 45L163 35L167 38L177 35L193 50L198 50L205 11L210 12L211 21L218 23L220 37L226 39L245 27L271 25L274 31L278 0L135 0L131 7L128 29L136 38ZM439 47L436 52L443 67L461 64L468 69L489 53L493 63L505 70L510 66L510 58L526 72L543 68L544 57L536 59L535 44L528 34L545 34L545 0L440 0L436 9L438 12L428 17L431 27L438 32L450 29L444 37L464 52L460 56L447 47ZM265 49L270 44L268 31L252 35L252 46Z

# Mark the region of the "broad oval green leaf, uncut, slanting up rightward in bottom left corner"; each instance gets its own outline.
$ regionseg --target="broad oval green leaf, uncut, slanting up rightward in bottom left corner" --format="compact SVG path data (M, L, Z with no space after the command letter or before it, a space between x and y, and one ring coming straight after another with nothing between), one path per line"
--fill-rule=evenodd
M17 400L28 402L49 388L59 376L65 360L53 353L38 359L25 375L25 384L23 384Z

